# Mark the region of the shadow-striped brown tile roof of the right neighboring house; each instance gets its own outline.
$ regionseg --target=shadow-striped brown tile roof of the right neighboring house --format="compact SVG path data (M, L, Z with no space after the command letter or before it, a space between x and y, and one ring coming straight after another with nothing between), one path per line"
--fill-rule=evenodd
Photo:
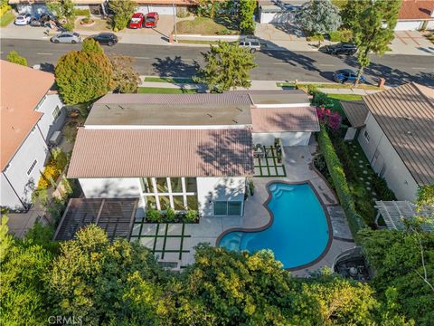
M419 185L434 181L434 104L426 87L410 82L363 97Z

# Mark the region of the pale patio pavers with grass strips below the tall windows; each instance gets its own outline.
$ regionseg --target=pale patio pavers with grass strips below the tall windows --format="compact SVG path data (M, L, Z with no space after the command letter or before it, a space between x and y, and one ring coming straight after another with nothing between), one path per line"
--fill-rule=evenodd
M190 253L184 249L184 240L191 235L185 235L184 223L145 223L144 219L136 220L131 230L130 241L138 241L149 248L153 254L158 254L159 260L170 259L168 254L177 254L176 260L181 261L183 254ZM170 255L175 258L174 255Z

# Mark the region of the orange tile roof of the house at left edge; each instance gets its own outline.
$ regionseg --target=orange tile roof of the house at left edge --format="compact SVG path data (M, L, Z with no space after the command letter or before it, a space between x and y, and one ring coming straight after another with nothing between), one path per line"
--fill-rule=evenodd
M34 109L50 90L54 75L0 60L2 171L42 117Z

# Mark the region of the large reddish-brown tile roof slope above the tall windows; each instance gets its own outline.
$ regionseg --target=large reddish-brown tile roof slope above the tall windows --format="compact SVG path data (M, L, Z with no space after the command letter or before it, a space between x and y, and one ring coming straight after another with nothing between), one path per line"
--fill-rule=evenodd
M252 176L250 129L80 128L68 177Z

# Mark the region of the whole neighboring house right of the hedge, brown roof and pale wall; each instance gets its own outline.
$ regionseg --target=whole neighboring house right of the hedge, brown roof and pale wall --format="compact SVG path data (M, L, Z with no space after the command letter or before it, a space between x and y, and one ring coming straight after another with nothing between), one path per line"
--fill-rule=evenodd
M399 200L434 183L434 90L410 82L342 106L373 170Z

